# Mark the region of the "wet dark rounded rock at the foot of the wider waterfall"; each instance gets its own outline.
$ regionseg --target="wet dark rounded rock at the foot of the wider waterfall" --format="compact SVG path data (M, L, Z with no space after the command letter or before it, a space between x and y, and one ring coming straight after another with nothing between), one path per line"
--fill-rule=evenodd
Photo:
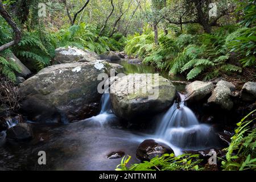
M136 151L136 156L141 161L149 161L156 156L160 157L164 154L171 153L174 153L174 151L170 147L156 143L155 140L149 139L144 140L141 144L139 144Z

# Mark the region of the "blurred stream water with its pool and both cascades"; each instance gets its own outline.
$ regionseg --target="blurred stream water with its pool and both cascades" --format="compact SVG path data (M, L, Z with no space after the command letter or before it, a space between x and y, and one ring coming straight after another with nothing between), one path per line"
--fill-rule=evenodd
M113 63L113 62L112 62ZM119 72L155 73L154 68L142 64L117 61L123 68ZM160 73L163 77L168 77ZM170 80L185 81L172 77ZM175 84L179 92L184 84ZM152 118L155 129L143 131L128 130L121 125L113 111L109 94L101 99L101 111L92 118L82 121L61 123L32 123L34 138L30 142L6 142L5 133L0 134L0 170L114 170L122 158L108 159L112 152L130 155L132 163L136 158L138 145L145 139L155 139L170 146L175 155L183 150L203 150L218 146L210 126L197 121L195 114L185 105L184 94L166 113ZM15 123L9 123L9 127ZM46 165L38 165L38 152L46 151Z

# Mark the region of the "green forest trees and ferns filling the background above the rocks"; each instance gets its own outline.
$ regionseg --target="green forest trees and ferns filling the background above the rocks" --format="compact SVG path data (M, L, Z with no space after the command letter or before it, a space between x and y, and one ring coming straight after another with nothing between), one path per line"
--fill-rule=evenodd
M0 67L13 81L19 70L8 60L10 52L37 72L51 65L62 46L98 54L125 50L188 80L234 72L255 78L253 0L7 0L1 5L0 42L7 47Z

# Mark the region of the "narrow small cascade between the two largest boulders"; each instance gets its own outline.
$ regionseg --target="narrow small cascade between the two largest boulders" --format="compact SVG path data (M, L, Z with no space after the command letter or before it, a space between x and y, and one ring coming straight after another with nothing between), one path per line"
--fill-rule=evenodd
M101 111L100 114L85 119L84 121L92 121L92 122L98 122L101 126L103 126L105 123L117 121L117 117L113 114L112 111L112 105L110 102L110 95L108 92L105 92L101 97Z

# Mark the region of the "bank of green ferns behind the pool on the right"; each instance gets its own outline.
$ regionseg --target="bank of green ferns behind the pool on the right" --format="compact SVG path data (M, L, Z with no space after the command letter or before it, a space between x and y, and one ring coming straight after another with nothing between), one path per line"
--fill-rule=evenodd
M241 67L229 63L226 45L236 29L236 25L229 25L216 28L212 34L177 37L160 31L159 46L154 44L154 32L144 32L129 38L125 51L143 59L144 64L169 71L170 75L184 74L188 80L203 75L204 80L209 80L222 73L242 72Z

